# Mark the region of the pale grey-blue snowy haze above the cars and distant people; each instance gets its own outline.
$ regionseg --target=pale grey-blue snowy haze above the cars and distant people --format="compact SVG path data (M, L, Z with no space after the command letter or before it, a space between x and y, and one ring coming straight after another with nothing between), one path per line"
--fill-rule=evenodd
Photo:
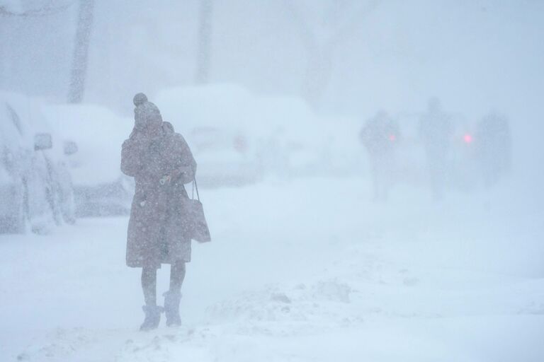
M14 11L63 6L0 17L0 88L64 100L77 4L4 3ZM198 11L191 0L96 1L85 101L129 114L125 100L136 91L193 83ZM215 1L209 81L301 95L316 54L325 54L327 74L310 69L318 110L364 118L421 110L437 95L468 117L506 113L516 153L541 163L543 12L531 0Z

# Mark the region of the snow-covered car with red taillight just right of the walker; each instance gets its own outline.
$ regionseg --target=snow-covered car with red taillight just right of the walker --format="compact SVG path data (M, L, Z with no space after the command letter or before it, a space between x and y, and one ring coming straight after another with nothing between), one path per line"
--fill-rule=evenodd
M238 186L261 177L251 94L237 86L172 88L152 99L165 121L183 134L198 163L203 186Z

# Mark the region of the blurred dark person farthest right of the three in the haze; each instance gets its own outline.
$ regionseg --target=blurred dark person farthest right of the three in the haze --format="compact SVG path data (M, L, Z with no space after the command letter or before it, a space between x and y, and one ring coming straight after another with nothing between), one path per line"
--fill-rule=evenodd
M485 187L496 184L510 169L510 128L508 119L490 113L478 122L475 134L478 163Z

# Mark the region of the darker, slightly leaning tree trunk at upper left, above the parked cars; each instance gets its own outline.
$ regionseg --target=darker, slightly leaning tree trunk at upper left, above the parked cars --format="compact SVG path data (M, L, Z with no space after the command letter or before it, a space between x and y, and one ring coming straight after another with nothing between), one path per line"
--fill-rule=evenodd
M79 0L74 59L68 91L69 103L80 103L85 91L85 77L89 58L89 40L93 26L94 0Z

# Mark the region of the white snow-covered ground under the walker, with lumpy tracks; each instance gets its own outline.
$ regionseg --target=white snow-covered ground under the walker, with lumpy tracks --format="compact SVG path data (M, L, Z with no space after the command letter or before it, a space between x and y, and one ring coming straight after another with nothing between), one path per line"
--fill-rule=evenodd
M544 361L544 214L506 187L203 190L213 242L194 245L184 325L145 333L128 218L2 235L0 361Z

